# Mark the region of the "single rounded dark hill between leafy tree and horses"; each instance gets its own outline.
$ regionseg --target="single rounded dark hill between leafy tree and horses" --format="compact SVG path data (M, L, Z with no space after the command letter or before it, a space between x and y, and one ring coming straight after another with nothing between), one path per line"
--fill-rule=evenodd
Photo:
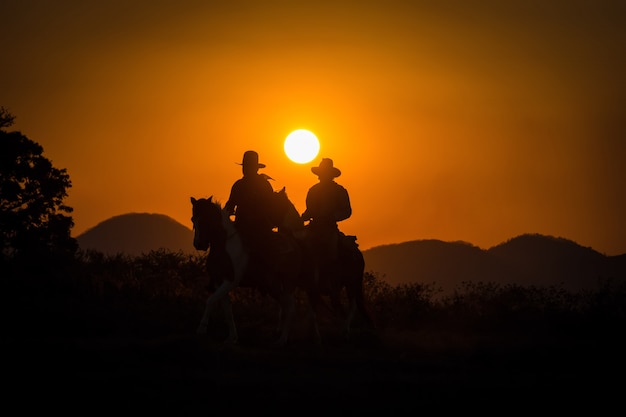
M195 253L193 231L164 214L129 213L112 217L76 237L81 249L136 256L152 250Z

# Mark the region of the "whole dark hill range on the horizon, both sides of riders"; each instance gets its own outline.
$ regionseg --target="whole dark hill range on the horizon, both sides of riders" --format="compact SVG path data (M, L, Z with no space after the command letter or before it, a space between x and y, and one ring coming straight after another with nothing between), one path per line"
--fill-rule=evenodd
M167 249L195 254L193 230L164 214L111 217L77 238L81 249L140 255ZM435 284L444 294L463 282L595 289L626 282L626 254L603 255L565 238L522 234L489 249L464 241L412 240L363 250L366 272L391 285Z

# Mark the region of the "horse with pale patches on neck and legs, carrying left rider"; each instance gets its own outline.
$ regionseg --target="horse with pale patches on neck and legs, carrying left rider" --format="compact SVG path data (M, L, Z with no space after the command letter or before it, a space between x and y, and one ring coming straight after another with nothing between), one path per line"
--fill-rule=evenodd
M206 333L209 318L216 306L221 306L228 322L225 344L237 342L230 292L236 287L262 289L278 301L281 311L277 345L287 343L295 314L295 289L301 270L301 248L293 238L273 232L271 259L252 262L234 222L218 202L209 198L191 197L194 229L193 245L198 250L209 250L207 272L213 292L207 298L198 334ZM290 243L293 242L293 243Z

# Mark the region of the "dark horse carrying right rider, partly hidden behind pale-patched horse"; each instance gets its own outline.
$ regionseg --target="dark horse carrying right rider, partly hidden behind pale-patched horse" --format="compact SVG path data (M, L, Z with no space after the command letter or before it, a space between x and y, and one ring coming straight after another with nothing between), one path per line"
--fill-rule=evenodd
M373 320L365 306L363 280L365 260L363 253L356 243L356 237L342 234L337 259L325 262L316 261L316 256L308 244L307 227L298 214L298 210L289 200L285 188L275 193L275 222L278 230L291 233L300 244L302 256L302 270L299 279L300 286L307 292L313 314L323 306L322 297L330 299L331 307L336 316L342 317L343 331L346 337L350 336L351 325L356 314L359 313L365 323L373 327ZM342 292L345 290L348 299L346 312L341 302ZM317 321L314 318L314 325ZM316 327L317 337L319 330Z

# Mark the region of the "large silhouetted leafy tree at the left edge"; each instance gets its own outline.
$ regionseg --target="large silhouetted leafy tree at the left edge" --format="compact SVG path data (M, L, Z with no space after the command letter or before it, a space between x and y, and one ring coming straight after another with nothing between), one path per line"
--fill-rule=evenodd
M65 169L52 166L43 147L21 132L6 130L15 117L0 107L0 251L9 263L48 267L78 249L63 204L71 187Z

